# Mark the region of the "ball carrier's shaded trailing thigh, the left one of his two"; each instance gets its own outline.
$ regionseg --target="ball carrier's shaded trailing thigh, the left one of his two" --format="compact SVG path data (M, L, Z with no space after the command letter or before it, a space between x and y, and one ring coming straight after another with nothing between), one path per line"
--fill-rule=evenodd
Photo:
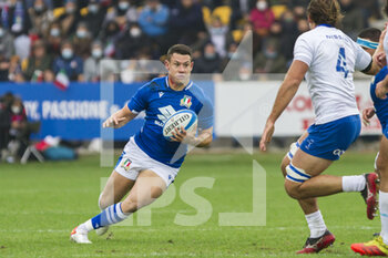
M119 203L129 193L134 184L134 180L131 180L120 175L116 171L113 171L102 192L100 198L100 203L102 204L100 205L109 206Z

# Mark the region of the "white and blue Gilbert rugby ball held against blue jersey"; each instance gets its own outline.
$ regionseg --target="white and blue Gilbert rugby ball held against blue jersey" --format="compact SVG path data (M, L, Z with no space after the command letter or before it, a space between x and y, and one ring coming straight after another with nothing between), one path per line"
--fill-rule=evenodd
M173 115L171 115L163 126L163 136L171 141L173 133L175 133L175 128L181 130L181 126L187 133L191 133L197 124L197 116L194 111L191 110L181 110Z

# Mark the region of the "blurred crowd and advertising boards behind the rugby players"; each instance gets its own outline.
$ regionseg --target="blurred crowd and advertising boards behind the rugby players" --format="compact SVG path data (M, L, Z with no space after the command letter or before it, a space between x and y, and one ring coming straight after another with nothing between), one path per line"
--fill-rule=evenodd
M63 147L62 157L74 158L78 153L101 151L105 140L122 146L141 127L143 116L116 131L114 138L101 140L101 121L144 82L160 75L149 60L159 60L175 43L193 49L194 79L214 102L212 148L257 146L277 87L293 61L294 43L309 29L308 2L1 1L1 159L39 158L51 146ZM382 0L339 3L345 14L340 29L354 40L365 28L382 29ZM242 56L237 50L246 32L252 32L249 56ZM360 109L371 105L369 81L356 74ZM108 97L105 92L113 95ZM288 147L313 117L307 90L302 86L277 125L273 149ZM377 120L364 127L363 135L355 147L375 149L380 135Z

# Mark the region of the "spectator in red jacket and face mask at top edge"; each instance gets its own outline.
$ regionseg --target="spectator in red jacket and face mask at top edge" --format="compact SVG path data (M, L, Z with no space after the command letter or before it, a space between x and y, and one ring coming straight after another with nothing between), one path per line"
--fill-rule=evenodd
M249 21L259 35L267 35L270 24L275 21L275 16L270 10L267 0L257 0L256 8L251 11Z

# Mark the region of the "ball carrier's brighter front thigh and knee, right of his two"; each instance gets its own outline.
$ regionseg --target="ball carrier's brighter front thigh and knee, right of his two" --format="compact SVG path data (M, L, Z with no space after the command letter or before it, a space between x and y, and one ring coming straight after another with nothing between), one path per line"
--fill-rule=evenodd
M140 209L159 198L167 186L165 180L151 169L142 171L130 194L123 202L123 209Z

